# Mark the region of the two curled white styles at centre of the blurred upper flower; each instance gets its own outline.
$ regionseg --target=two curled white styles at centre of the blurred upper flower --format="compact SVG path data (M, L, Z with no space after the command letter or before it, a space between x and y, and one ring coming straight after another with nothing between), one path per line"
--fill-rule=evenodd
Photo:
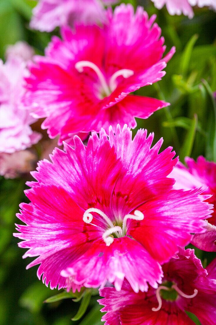
M121 69L116 71L109 80L109 83L107 83L106 78L104 77L103 73L101 70L98 68L96 64L94 64L91 61L78 61L75 64L75 69L77 69L78 72L83 72L85 67L91 68L94 70L94 72L97 74L98 79L101 83L102 89L99 94L100 99L104 97L110 96L110 94L116 89L118 83L117 83L117 78L119 76L123 76L124 78L129 78L134 74L133 70L130 69Z

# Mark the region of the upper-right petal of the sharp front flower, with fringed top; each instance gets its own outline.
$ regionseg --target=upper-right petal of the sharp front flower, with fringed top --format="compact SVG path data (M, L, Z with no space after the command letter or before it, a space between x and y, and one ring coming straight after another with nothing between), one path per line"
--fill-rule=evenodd
M147 130L138 130L132 140L132 132L124 126L117 127L116 134L110 129L109 141L114 145L117 157L123 167L112 196L112 211L116 218L124 218L133 209L152 197L168 192L174 180L166 176L172 171L178 158L169 147L158 154L162 139L152 148L153 134L147 137Z

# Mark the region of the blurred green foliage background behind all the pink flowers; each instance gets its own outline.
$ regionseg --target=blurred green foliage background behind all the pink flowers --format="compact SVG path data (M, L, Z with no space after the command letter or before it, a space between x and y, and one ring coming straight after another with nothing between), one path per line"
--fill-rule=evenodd
M163 8L158 11L151 1L125 1L135 7L142 5L149 15L157 14L167 51L176 46L174 57L168 62L166 75L157 84L137 91L169 101L168 108L155 112L148 120L138 120L138 128L155 133L156 142L164 138L162 149L173 146L180 160L186 155L197 159L204 155L216 162L216 104L212 91L216 90L216 13L208 8L194 8L195 17L170 16ZM6 45L25 40L43 55L51 34L29 29L31 9L36 1L0 0L0 57L4 59ZM56 30L54 33L58 33ZM136 133L136 130L133 131ZM30 178L27 177L27 178ZM18 204L27 199L23 193L26 179L0 178L0 325L68 325L77 313L80 302L71 298L45 304L43 301L58 291L45 287L36 276L37 266L25 269L30 263L22 260L23 249L13 238ZM196 249L204 266L215 254ZM102 324L98 296L92 296L85 315L74 324ZM193 317L197 323L198 320Z

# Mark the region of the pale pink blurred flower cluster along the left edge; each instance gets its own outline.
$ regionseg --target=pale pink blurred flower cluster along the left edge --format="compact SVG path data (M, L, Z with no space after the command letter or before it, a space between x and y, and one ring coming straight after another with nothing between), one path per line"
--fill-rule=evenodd
M9 178L31 170L34 155L25 149L41 138L30 127L36 120L20 104L26 63L32 55L30 46L19 42L8 47L6 62L0 61L0 175Z

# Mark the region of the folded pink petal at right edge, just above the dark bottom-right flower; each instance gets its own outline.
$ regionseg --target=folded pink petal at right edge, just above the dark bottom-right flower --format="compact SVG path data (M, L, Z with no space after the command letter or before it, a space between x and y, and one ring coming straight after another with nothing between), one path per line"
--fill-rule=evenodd
M192 236L191 244L207 252L216 252L216 226L206 220L206 232Z

